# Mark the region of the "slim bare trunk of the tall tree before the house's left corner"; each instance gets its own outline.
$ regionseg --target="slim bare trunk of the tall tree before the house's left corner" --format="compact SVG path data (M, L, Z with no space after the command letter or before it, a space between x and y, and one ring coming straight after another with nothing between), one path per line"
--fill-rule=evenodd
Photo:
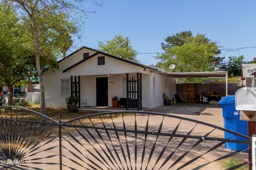
M37 28L37 23L35 20L35 16L31 16L32 28L35 38L35 56L36 56L36 70L40 81L40 93L41 93L41 113L46 115L45 108L45 93L44 93L44 83L43 83L43 73L40 65L40 43L39 43L39 33Z

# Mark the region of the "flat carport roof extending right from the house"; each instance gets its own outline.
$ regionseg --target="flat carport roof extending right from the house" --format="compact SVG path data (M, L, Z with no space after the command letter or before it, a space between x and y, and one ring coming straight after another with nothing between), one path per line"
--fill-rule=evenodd
M226 71L214 72L159 72L174 78L226 78Z

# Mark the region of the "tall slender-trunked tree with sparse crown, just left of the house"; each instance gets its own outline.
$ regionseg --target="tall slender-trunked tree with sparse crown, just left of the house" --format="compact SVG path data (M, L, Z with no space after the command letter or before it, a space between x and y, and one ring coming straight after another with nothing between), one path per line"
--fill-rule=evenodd
M50 69L56 66L57 58L66 54L71 46L71 35L76 33L78 21L73 22L78 13L85 14L85 7L81 1L58 1L58 0L0 0L2 4L11 3L18 8L17 12L21 16L27 30L26 37L30 41L24 46L26 50L34 56L34 62L40 81L41 89L41 112L46 113L45 93L43 83L44 67ZM95 1L93 1L95 2ZM79 12L76 12L79 10ZM65 13L63 13L65 11ZM77 16L77 15L76 15ZM83 15L84 16L84 15ZM53 64L52 64L53 62Z

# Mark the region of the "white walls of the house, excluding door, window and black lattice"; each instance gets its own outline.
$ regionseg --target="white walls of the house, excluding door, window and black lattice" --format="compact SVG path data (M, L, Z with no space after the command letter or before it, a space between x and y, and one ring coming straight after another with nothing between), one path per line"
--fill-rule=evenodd
M45 86L45 98L47 107L61 107L66 108L66 98L68 96L61 96L61 80L70 79L70 76L81 75L81 105L95 106L96 105L96 77L108 77L108 105L111 106L111 96L124 96L123 81L126 77L125 73L130 73L130 77L135 78L135 73L142 73L142 107L152 108L163 105L162 93L171 95L175 93L175 79L166 77L164 75L150 72L149 69L116 60L114 58L105 56L105 65L98 65L97 55L89 60L77 65L73 69L63 73L62 71L69 66L83 60L83 53L90 53L93 51L82 49L73 56L59 63L59 70L45 71L43 74ZM153 77L156 79L156 96L153 95ZM166 82L167 81L167 82Z

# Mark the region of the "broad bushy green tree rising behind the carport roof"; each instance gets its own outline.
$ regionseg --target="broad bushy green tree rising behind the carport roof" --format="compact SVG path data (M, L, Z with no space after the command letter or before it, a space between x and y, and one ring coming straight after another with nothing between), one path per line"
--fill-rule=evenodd
M187 37L182 39L182 43L177 38L180 35ZM157 66L166 71L170 71L170 64L176 65L174 72L213 71L220 62L220 58L216 57L220 54L217 44L205 35L190 36L190 32L181 32L169 37L169 40L172 41L163 48L165 53L156 56L159 60Z

